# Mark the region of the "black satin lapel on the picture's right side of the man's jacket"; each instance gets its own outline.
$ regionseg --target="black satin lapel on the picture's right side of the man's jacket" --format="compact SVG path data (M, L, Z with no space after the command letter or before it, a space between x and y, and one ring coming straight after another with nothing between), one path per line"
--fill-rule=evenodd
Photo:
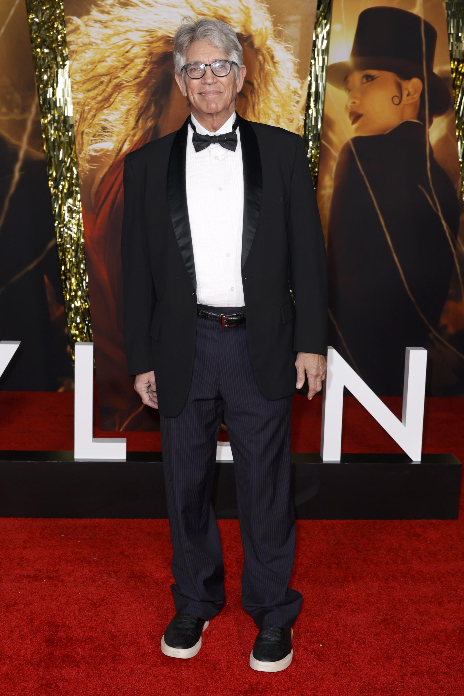
M253 126L239 117L241 158L243 162L243 231L241 237L241 267L245 265L261 209L262 166L258 141Z

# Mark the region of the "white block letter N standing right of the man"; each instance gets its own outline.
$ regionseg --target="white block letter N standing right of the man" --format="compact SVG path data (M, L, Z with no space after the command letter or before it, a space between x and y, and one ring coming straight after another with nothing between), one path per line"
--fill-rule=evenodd
M342 451L343 388L346 386L360 404L374 416L384 430L413 461L422 454L422 427L427 351L406 348L401 422L362 381L333 347L328 348L327 376L322 402L321 458L340 461ZM383 369L379 365L379 369Z

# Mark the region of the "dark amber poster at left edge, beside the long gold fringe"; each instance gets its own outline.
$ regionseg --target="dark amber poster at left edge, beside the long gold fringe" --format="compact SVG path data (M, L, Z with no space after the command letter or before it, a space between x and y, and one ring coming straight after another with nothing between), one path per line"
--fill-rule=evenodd
M72 390L63 288L26 3L0 6L0 340L3 390Z

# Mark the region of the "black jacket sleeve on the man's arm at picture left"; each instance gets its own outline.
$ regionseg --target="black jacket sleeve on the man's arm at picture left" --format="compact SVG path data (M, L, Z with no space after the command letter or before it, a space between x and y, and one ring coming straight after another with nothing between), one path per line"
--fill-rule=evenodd
M129 153L130 154L130 153ZM153 370L150 324L154 285L148 260L143 200L131 168L124 159L124 213L121 232L124 345L129 375Z

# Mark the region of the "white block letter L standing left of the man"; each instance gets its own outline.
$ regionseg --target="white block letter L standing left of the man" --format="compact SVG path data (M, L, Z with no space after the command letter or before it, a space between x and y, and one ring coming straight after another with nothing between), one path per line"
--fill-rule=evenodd
M126 438L93 437L93 343L74 350L74 459L125 459Z

